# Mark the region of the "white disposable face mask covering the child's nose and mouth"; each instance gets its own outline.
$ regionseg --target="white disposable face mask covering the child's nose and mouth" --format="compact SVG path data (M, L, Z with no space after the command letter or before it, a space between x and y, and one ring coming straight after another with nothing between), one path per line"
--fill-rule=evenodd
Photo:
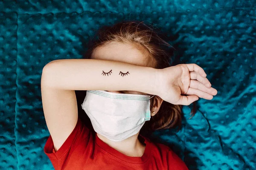
M83 104L93 129L111 141L122 141L138 133L150 120L150 100L141 94L86 91Z

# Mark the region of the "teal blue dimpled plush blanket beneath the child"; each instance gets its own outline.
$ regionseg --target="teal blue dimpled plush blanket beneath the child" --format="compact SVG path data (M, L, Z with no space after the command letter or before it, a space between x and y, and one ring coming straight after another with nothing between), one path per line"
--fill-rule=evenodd
M123 20L154 23L177 63L200 65L218 91L198 100L191 119L192 105L183 107L178 133L152 139L189 170L255 170L256 0L0 1L0 170L53 170L43 150L42 69L82 58L98 28Z

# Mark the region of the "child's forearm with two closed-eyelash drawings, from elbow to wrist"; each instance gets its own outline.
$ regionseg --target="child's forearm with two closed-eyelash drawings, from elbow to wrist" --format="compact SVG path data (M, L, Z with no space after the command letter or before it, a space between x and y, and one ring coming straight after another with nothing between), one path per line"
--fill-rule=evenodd
M44 67L41 85L63 90L140 91L154 94L158 70L102 59L58 59Z

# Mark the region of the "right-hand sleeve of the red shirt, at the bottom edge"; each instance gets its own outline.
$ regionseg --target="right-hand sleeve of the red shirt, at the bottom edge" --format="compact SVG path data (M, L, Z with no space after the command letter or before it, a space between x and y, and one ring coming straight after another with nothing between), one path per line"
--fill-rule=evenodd
M185 162L183 162L172 150L169 150L167 160L168 170L189 170Z

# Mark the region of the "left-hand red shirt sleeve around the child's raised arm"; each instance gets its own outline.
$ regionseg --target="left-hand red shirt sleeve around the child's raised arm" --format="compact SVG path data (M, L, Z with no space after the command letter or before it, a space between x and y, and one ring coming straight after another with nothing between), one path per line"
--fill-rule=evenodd
M49 157L52 165L57 167L58 164L61 164L60 159L67 157L68 154L71 154L74 148L89 136L90 130L84 125L81 119L78 118L76 127L70 133L64 144L62 144L57 150L57 152L55 152L52 136L50 135L44 146L44 153Z

